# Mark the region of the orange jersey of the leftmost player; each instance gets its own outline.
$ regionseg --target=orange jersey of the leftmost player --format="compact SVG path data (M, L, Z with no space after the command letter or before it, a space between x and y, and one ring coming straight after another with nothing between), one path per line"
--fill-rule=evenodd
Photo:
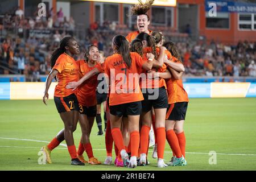
M73 57L67 55L66 53L61 54L52 69L56 69L57 78L59 79L58 84L55 87L54 96L55 97L67 97L72 93L72 89L66 89L66 85L72 81L79 80L79 67Z

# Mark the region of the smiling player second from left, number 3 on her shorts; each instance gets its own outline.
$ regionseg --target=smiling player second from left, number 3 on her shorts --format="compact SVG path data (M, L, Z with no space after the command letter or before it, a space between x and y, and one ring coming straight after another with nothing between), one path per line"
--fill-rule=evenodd
M96 69L98 73L103 73L104 68L98 63L99 52L96 46L88 46L86 48L85 60L76 61L79 65L80 77L86 75L86 73ZM73 89L74 85L77 86L77 82L69 82L66 86L68 89ZM77 151L77 157L84 163L87 161L82 156L82 153L86 151L88 155L89 164L101 164L98 159L94 158L92 145L90 144L90 132L94 118L97 113L97 100L96 100L96 88L98 85L97 75L90 77L89 80L82 82L77 89L77 99L79 101L79 123L82 130L82 137Z

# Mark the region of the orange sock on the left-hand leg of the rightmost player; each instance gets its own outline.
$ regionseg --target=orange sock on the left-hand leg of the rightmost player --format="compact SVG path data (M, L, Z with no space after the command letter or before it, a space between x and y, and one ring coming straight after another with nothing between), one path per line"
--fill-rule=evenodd
M176 154L177 158L181 158L182 154L179 146L179 140L177 139L174 130L168 130L166 132L166 138L172 151L174 151L174 153Z

